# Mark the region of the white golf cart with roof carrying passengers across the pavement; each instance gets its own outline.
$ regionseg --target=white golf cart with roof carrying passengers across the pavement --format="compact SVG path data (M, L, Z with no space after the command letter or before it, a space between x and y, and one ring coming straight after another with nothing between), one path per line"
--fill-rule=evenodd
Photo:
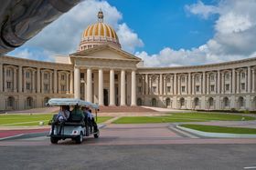
M69 112L69 118L66 121L59 122L58 115L53 115L52 120L49 121L48 125L51 125L51 129L48 136L52 144L57 144L59 140L67 138L71 138L77 144L80 144L84 136L94 135L94 138L99 137L100 131L97 124L91 125L88 117L80 110L80 107L94 109L97 120L98 105L74 98L52 98L47 105L75 108Z

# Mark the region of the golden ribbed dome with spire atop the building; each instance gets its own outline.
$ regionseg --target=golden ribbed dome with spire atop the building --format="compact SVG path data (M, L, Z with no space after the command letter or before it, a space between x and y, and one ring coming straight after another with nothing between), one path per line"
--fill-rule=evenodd
M85 50L96 45L113 45L121 48L118 36L110 25L103 23L103 13L98 13L98 23L89 25L82 34L80 49Z

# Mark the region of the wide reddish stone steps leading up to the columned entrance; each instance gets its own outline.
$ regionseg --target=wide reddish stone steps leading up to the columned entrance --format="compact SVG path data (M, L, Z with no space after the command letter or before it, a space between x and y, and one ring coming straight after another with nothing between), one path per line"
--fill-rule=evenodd
M121 112L156 112L150 108L142 106L100 106L101 113L121 113Z

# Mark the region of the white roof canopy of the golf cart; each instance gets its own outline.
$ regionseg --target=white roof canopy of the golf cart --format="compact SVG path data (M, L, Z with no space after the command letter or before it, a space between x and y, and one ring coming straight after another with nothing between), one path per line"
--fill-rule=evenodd
M48 105L80 105L99 109L99 105L76 98L51 98L48 100Z

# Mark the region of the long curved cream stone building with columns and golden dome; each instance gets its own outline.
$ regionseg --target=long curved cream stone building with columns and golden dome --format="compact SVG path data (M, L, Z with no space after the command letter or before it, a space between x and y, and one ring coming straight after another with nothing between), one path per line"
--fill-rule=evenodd
M99 105L256 110L256 58L213 65L144 67L98 14L76 53L56 63L0 57L0 110L42 107L52 97Z

